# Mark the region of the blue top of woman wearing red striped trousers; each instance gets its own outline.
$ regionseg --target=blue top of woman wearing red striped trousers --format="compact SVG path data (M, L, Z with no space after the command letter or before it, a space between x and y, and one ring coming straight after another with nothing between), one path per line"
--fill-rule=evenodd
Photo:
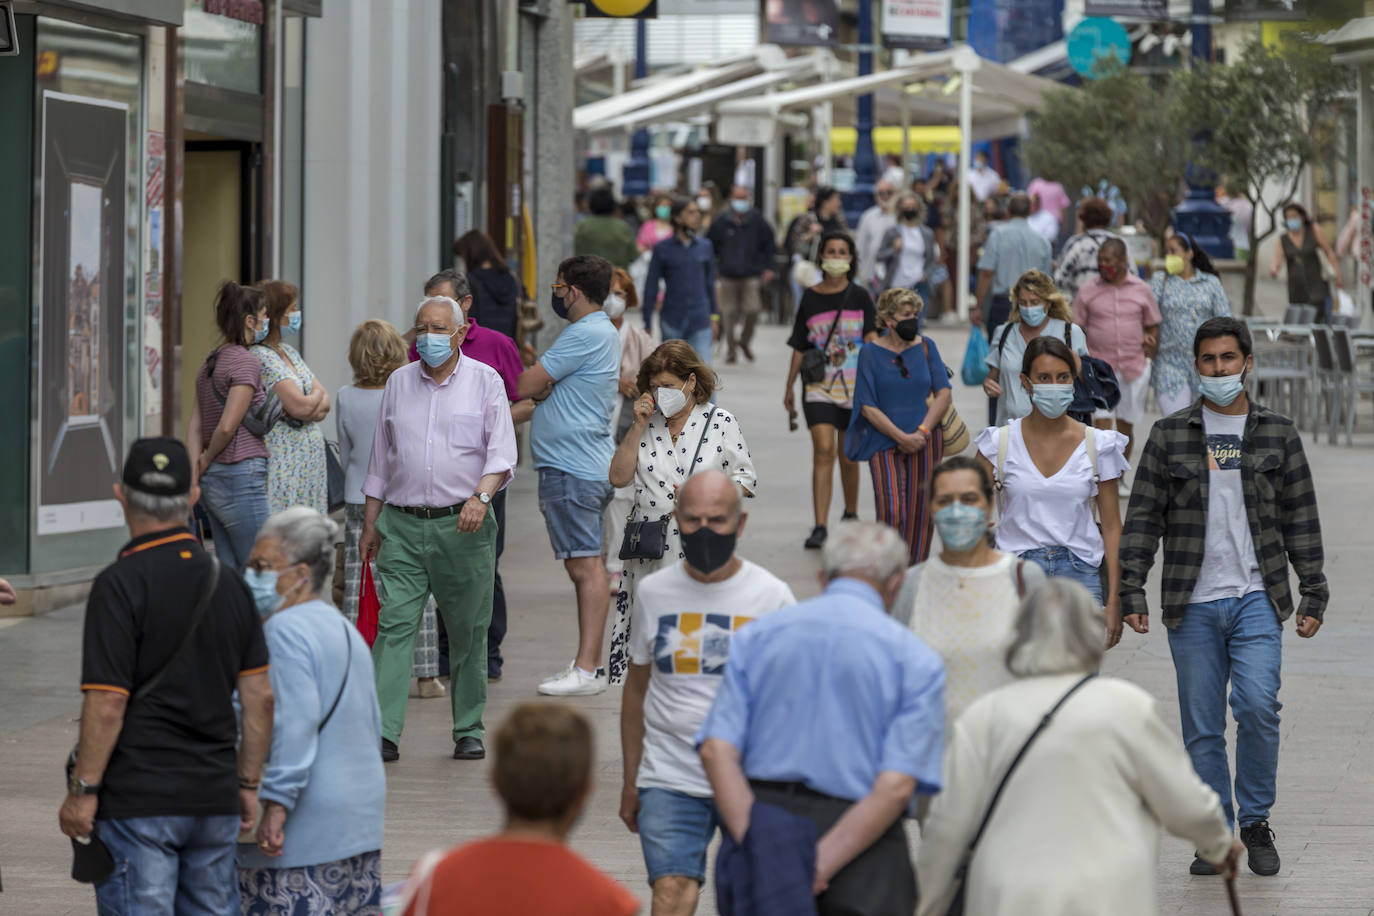
M892 334L889 331L888 334ZM926 419L926 398L933 391L949 387L949 374L936 342L923 338L930 347L930 360L921 352L921 342L910 345L901 353L893 353L877 341L864 343L859 350L859 374L855 378L855 408L849 416L849 430L845 433L845 456L851 461L867 461L883 449L894 449L897 444L879 433L863 415L864 405L875 407L888 415L903 433L915 433ZM907 376L901 376L905 367ZM938 431L932 431L940 435Z

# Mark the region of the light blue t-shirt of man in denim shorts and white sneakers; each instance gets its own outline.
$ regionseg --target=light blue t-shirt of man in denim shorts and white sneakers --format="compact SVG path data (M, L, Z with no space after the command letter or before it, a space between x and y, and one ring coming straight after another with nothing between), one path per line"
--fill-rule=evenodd
M539 363L555 385L530 420L534 467L605 481L616 453L610 417L620 393L620 332L598 309L563 328Z

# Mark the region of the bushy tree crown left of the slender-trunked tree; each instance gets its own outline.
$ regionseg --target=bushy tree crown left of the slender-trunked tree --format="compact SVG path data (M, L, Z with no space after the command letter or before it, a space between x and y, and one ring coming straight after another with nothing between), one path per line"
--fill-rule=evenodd
M1106 67L1079 88L1046 96L1030 115L1030 169L1070 191L1106 179L1131 217L1156 236L1169 224L1187 166L1189 133L1172 118L1169 84Z

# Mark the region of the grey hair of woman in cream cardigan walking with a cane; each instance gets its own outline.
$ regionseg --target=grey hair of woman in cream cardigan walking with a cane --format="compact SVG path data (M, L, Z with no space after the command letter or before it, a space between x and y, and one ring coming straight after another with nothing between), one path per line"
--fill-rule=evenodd
M1051 578L1026 595L1007 647L1015 677L1095 672L1106 651L1106 621L1088 589Z

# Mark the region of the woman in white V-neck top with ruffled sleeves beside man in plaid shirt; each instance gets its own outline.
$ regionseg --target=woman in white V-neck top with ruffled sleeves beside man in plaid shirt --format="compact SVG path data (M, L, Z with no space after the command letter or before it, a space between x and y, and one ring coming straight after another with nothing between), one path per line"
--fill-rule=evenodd
M1021 387L1030 413L978 434L978 460L999 490L998 547L1072 578L1106 606L1107 648L1121 640L1121 504L1125 437L1070 419L1074 354L1063 341L1030 341ZM1092 505L1101 515L1094 523ZM1102 567L1106 567L1103 596Z

